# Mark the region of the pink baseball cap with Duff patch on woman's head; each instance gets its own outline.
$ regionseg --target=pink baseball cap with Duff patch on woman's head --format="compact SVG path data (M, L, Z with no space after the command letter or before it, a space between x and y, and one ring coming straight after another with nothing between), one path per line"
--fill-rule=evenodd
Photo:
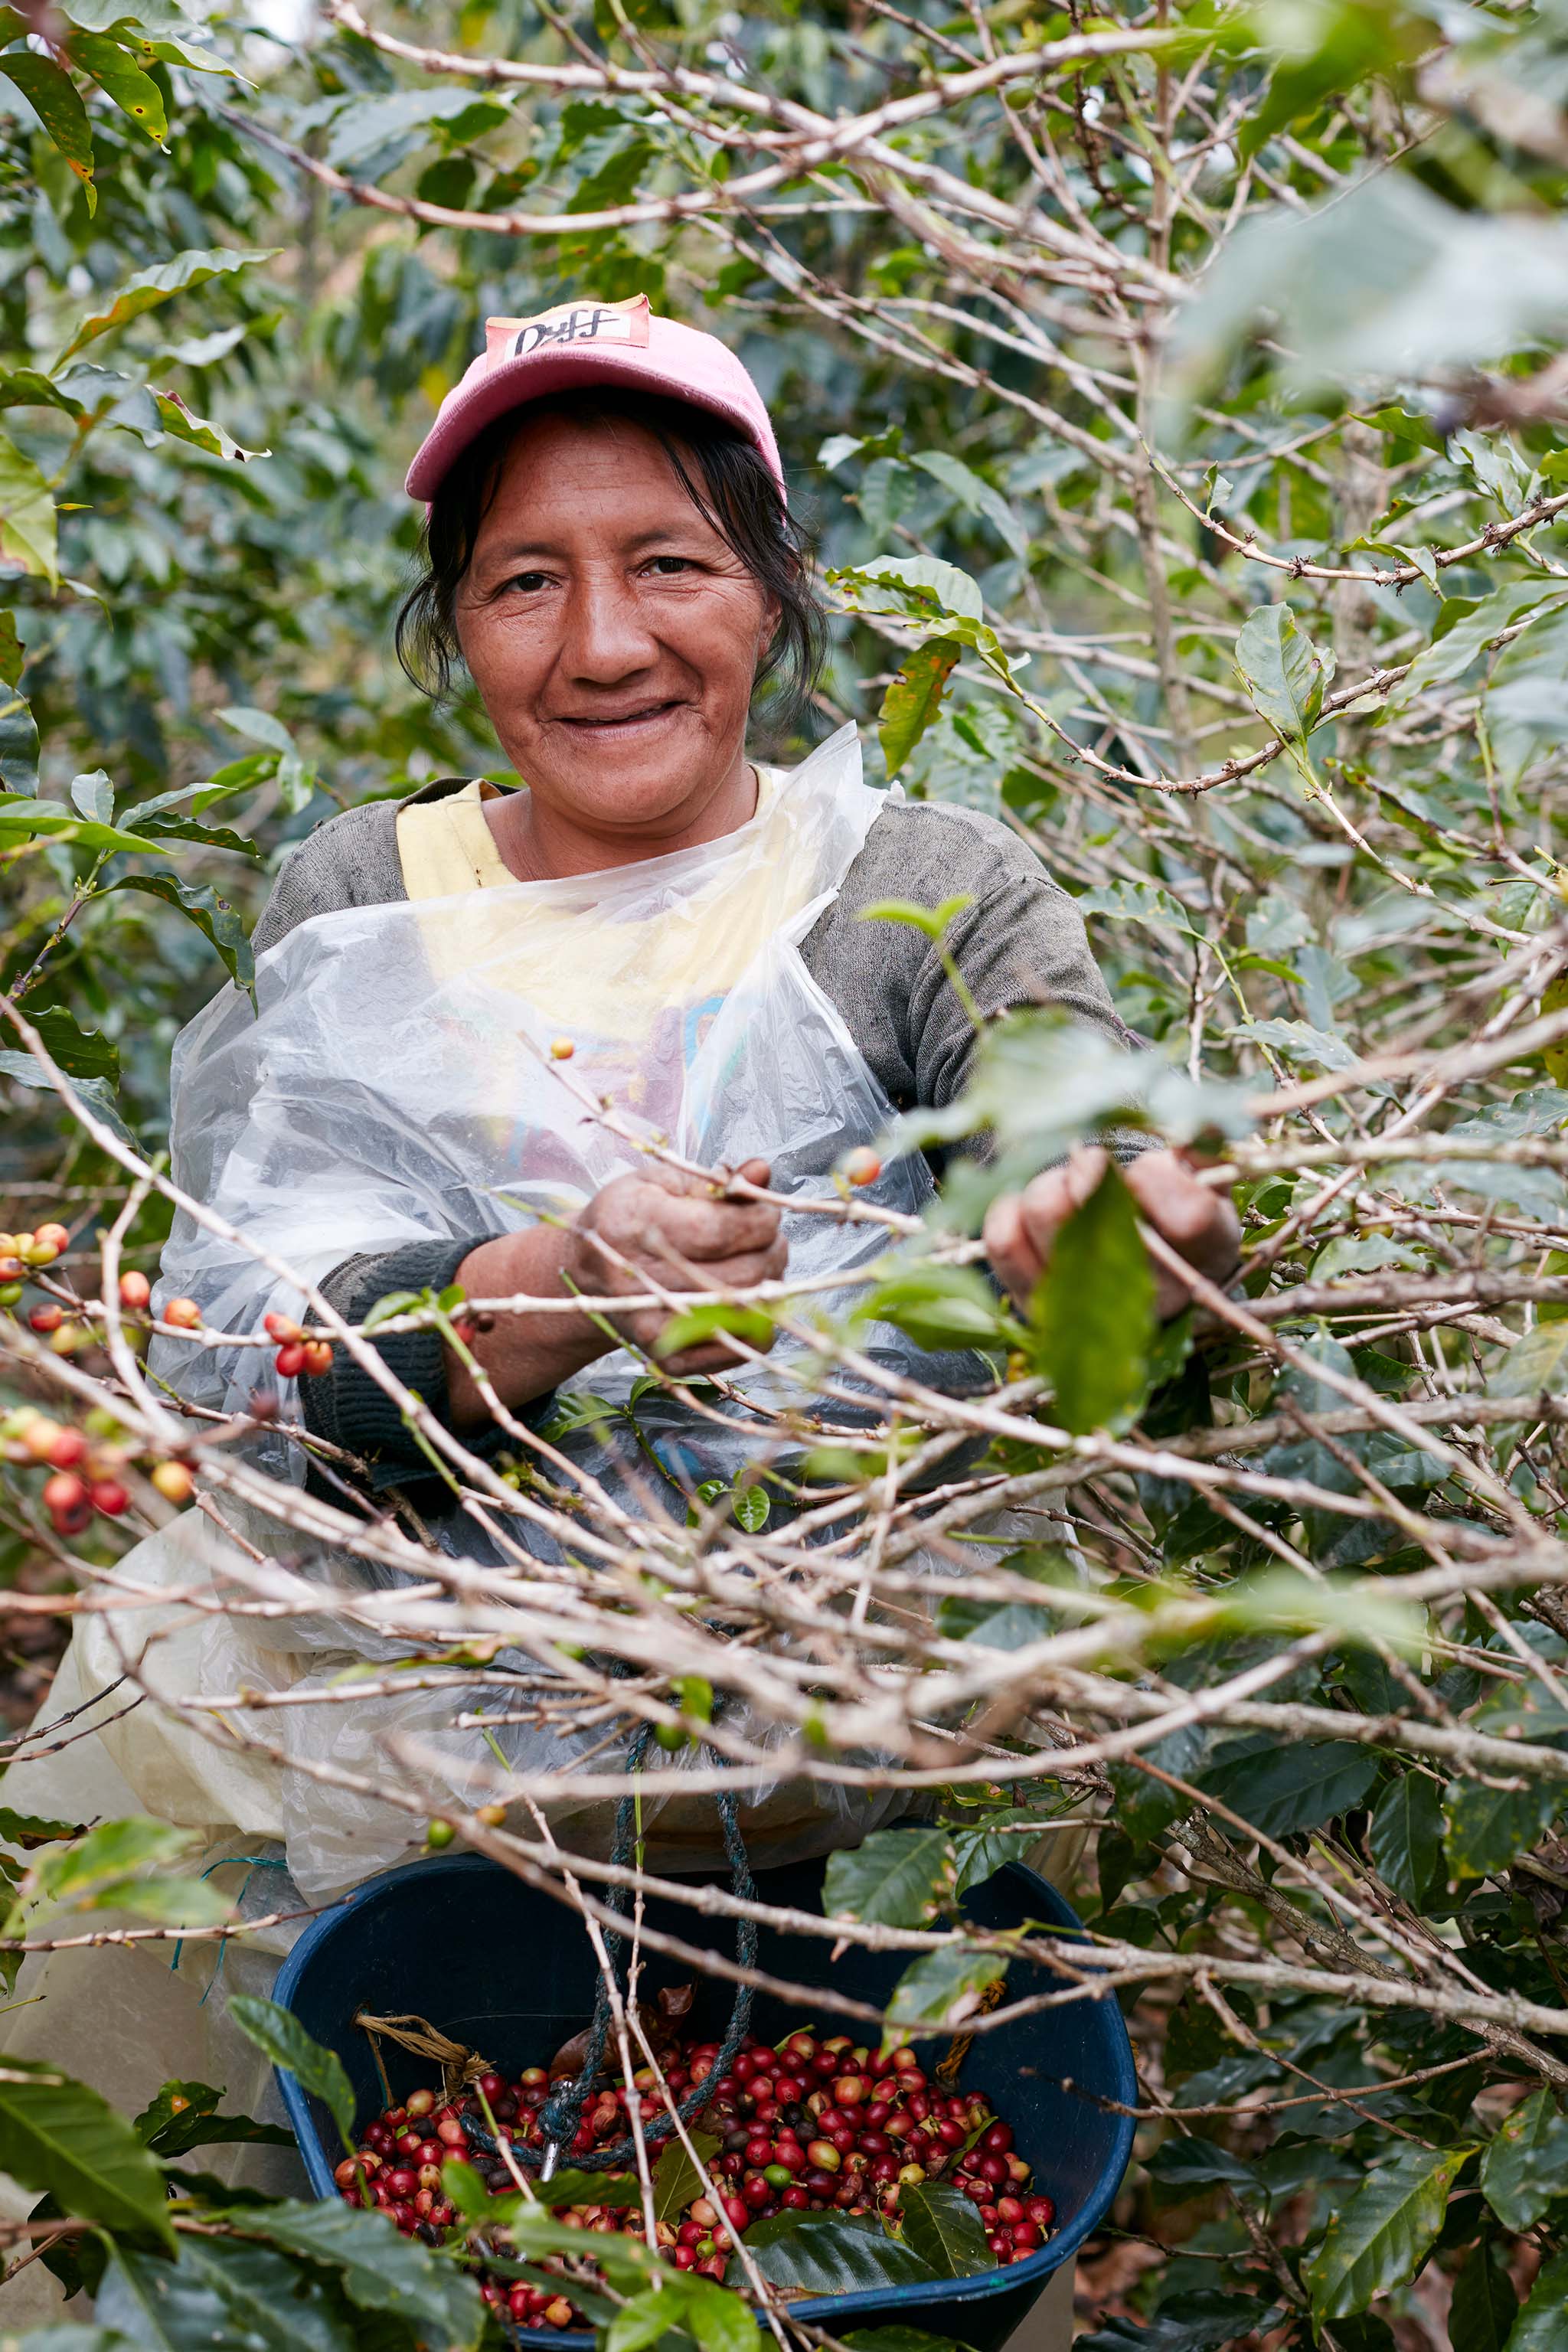
M726 416L757 445L783 496L773 426L741 360L717 336L656 318L646 294L557 303L538 318L487 318L484 350L442 400L404 489L433 499L454 459L496 416L578 383L625 383Z

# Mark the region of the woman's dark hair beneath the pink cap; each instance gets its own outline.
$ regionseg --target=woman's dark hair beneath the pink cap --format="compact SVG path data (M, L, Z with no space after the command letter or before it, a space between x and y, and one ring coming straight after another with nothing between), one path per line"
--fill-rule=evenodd
M705 522L778 604L778 626L757 670L778 680L769 720L792 734L809 708L827 654L827 616L811 583L811 543L780 496L766 459L724 416L656 393L576 390L508 409L480 433L442 480L418 539L418 579L397 612L397 661L423 694L442 696L463 652L456 600L480 524L489 513L512 440L534 416L576 423L625 421L651 433ZM693 463L696 461L696 463Z

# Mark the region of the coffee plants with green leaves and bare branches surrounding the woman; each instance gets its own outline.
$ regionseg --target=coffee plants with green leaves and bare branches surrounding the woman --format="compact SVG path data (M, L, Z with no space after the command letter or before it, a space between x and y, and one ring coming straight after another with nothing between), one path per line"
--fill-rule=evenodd
M343 2110L273 1962L244 1976L308 1910L266 1877L287 1825L223 1811L289 1686L202 1639L320 1635L350 1602L299 1566L353 1545L386 1672L315 1712L418 1686L480 1764L456 1802L409 1743L350 1769L327 1733L296 1762L322 1816L461 1839L590 1936L609 1884L689 1900L642 1853L569 1867L550 1773L473 1729L567 1691L604 1804L651 1726L649 1802L729 1783L745 1825L792 1776L910 1816L827 1875L827 1936L903 1955L889 2009L823 1969L783 1987L818 2034L964 2027L983 2067L1039 2011L1048 2072L1051 2004L1114 1992L1135 2161L1079 2258L1081 2352L1566 2352L1566 183L1563 0L0 9L0 2328L38 2321L7 2343L498 2340L458 2260L489 2192L435 2246L280 2197L289 2136L160 2086L136 2032L174 1955L233 2051ZM637 292L778 421L835 609L816 736L858 720L872 781L1030 842L1140 1042L990 1023L964 1103L891 1138L950 1152L919 1230L837 1171L832 1214L889 1223L842 1312L788 1279L677 1301L691 1336L804 1341L795 1428L870 1317L985 1350L987 1390L889 1378L804 1496L764 1446L628 1515L564 1491L548 1432L508 1456L421 1418L308 1284L299 1327L221 1334L252 1411L190 1404L169 1367L214 1334L153 1284L172 1044L252 985L280 858L496 767L477 703L390 656L433 402L487 315ZM961 913L886 920L940 955ZM1241 1279L1159 1327L1112 1174L1006 1315L987 1200L1107 1127L1234 1188ZM465 1312L378 1319L461 1345ZM268 1390L306 1350L371 1367L449 1489L567 1566L477 1588L367 1508ZM226 1576L148 1585L169 1526ZM160 1672L181 1639L195 1679ZM129 1797L61 1813L99 1726ZM129 1726L212 1759L207 1811L136 1785ZM1086 1940L964 1922L1034 1849L1081 1849ZM559 2251L501 2218L524 2265ZM745 2237L726 2284L595 2244L609 2352L745 2352L748 2300L818 2340ZM56 2328L61 2288L92 2317Z

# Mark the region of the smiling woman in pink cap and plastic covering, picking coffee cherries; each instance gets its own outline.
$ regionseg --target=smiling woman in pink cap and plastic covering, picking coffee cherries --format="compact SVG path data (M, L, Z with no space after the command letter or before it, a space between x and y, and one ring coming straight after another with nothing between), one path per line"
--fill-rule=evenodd
M853 1418L853 1381L813 1397L790 1378L792 1341L743 1362L722 1336L661 1357L668 1310L618 1298L788 1272L813 1303L844 1277L853 1303L849 1277L884 1254L886 1228L795 1202L832 1200L835 1169L875 1157L896 1110L961 1094L976 1051L964 993L987 1018L1048 1004L1112 1044L1126 1030L1072 898L1001 823L870 790L853 727L795 771L748 757L757 687L799 706L825 630L766 409L722 343L646 301L491 320L409 492L428 522L402 652L437 687L465 670L522 783L440 781L350 809L284 863L256 929L254 1000L226 988L174 1056L174 1174L212 1218L176 1216L158 1305L195 1301L212 1341L158 1341L153 1369L193 1404L249 1414L268 1359L221 1336L310 1317L301 1284L350 1324L388 1294L449 1284L468 1301L536 1298L541 1312L477 1317L468 1338L510 1430L437 1329L371 1331L369 1345L473 1456L527 1465L529 1437L548 1435L557 1484L564 1463L585 1496L677 1526L693 1491L773 1470L785 1517L802 1404ZM924 931L860 920L886 898L954 896L969 903L943 946L961 988ZM773 1197L715 1197L639 1148L656 1138ZM994 1202L990 1263L1018 1301L1098 1169L1079 1152ZM1126 1181L1180 1263L1229 1275L1225 1200L1166 1150L1133 1157ZM919 1214L933 1171L907 1152L858 1197ZM1182 1303L1164 1263L1159 1289L1166 1312ZM856 1350L926 1390L992 1376L884 1324ZM254 1444L284 1498L306 1477L284 1435L303 1421L322 1442L310 1482L350 1517L400 1512L421 1545L496 1566L576 1550L578 1522L534 1494L501 1519L470 1508L433 1475L428 1428L404 1421L402 1397L343 1345L320 1357L280 1348L277 1425ZM726 1378L696 1404L649 1381L649 1359ZM564 1411L583 1390L604 1409ZM320 1512L301 1524L322 1526ZM235 1491L219 1522L179 1515L127 1573L143 1595L202 1578L233 1595L259 1557L350 1602L400 1583ZM487 1802L501 1748L515 1771L557 1776L564 1842L609 1837L614 1809L574 1790L578 1752L604 1752L597 1719L536 1726L498 1689L503 1729L461 1731L451 1693L381 1672L402 1651L374 1609L186 1609L136 1656L125 1644L141 1616L127 1623L78 1623L54 1705L92 1705L127 1672L167 1705L103 1715L101 1738L59 1757L73 1785L16 1806L200 1828L205 1851L247 1856L252 1893L275 1907L289 1896L259 1856L317 1900L418 1842L407 1811L367 1795L388 1755L430 1759L421 1809L440 1813ZM367 1668L376 1696L346 1705ZM289 1693L266 1715L266 1755L216 1740L200 1708L240 1689ZM738 1700L726 1724L764 1750L778 1736ZM99 1762L113 1785L92 1780ZM757 1860L783 1863L853 1844L905 1804L780 1766L748 1790L743 1825ZM663 1867L719 1856L703 1792L646 1799L644 1830Z

